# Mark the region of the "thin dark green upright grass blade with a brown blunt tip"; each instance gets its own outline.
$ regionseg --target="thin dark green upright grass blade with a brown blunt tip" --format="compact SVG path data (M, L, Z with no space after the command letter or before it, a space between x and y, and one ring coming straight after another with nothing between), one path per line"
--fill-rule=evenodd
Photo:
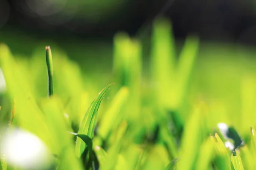
M45 47L46 50L46 65L48 74L48 96L53 95L53 64L52 64L52 51L50 46Z

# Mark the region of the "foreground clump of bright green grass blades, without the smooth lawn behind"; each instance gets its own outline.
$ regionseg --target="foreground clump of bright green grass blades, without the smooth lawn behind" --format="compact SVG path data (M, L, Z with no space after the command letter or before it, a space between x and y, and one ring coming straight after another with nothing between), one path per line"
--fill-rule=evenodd
M58 57L57 50L52 57L50 47L46 47L45 70L44 60L34 58L30 66L21 65L1 44L0 67L6 80L6 99L15 99L9 128L19 127L38 136L56 157L55 169L254 170L253 127L248 125L249 136L233 126L218 129L218 122L210 127L207 122L211 113L204 101L185 107L199 41L188 37L178 59L174 44L169 21L156 20L151 81L147 82L151 88L144 94L142 45L127 34L117 34L113 58L116 84L103 88L91 103L87 102L91 98L87 94L95 89L83 88L79 69L62 54ZM47 76L48 84L42 83L42 77L35 79L35 75L27 74L35 65L36 75ZM43 84L42 89L48 88L48 95L36 95L40 94L34 92L38 84ZM109 96L110 101L106 102L104 96ZM243 105L247 98L250 99L245 91ZM247 116L251 119L249 113ZM233 144L233 148L227 144ZM3 156L0 160L2 169L12 167Z

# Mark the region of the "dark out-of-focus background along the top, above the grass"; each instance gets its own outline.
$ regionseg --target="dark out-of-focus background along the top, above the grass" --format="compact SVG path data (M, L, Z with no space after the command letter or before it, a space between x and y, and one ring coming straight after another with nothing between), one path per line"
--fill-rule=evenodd
M201 40L256 44L256 3L253 0L97 0L91 1L90 6L70 0L67 6L70 9L75 8L72 5L79 6L80 12L63 23L55 19L67 18L68 14L49 15L47 20L54 20L48 22L33 13L26 1L0 0L0 20L5 20L9 13L7 23L0 27L2 30L22 30L41 37L58 34L61 37L112 40L117 31L126 31L132 36L141 34L150 28L154 17L165 15L172 20L178 39L195 33ZM51 11L51 8L47 10ZM95 16L96 19L92 19Z

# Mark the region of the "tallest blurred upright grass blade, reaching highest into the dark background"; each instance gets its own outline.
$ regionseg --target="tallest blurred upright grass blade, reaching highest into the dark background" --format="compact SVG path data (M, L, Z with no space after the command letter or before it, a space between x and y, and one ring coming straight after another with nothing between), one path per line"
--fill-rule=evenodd
M151 74L156 85L155 92L158 106L163 106L169 100L167 91L170 89L170 79L175 74L175 48L171 24L163 18L154 22L151 51ZM172 89L172 88L171 88Z

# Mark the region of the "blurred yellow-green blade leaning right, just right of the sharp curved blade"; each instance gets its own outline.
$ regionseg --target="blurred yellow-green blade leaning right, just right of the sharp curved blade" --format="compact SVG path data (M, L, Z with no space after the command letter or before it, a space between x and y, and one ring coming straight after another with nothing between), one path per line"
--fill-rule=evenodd
M119 112L126 102L128 94L129 90L127 87L120 88L112 100L108 110L102 116L98 133L103 139L106 139L112 127L118 123L116 120L120 120L120 118L123 117L123 115L120 115Z

